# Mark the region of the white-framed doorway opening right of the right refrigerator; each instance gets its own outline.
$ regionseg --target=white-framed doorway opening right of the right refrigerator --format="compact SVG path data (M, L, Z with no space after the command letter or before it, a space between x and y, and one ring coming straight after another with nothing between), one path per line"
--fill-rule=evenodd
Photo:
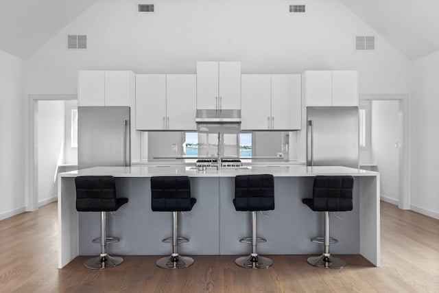
M407 106L408 95L360 95L360 110L369 119L360 167L380 172L381 200L400 209L410 209Z

